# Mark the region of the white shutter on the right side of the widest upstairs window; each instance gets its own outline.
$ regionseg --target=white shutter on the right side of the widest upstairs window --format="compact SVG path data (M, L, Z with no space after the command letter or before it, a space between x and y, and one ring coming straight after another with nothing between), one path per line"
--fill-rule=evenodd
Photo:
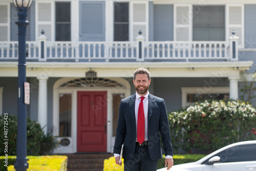
M226 36L231 35L232 30L236 31L238 39L238 47L244 47L244 5L227 5L226 6L227 15L227 27Z

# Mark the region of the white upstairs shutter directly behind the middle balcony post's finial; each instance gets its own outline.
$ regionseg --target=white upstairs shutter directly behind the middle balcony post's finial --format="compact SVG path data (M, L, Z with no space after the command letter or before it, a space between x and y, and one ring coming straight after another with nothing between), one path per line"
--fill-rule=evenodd
M132 9L132 15L131 15L131 41L135 41L136 37L139 35L138 32L141 30L142 35L145 37L145 40L147 40L148 37L148 28L147 28L147 18L148 18L148 6L146 3L135 3L131 2L131 9Z

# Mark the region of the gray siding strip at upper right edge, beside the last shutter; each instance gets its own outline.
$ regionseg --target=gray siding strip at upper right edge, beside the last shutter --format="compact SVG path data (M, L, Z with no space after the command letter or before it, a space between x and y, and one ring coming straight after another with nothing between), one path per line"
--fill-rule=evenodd
M256 48L256 5L246 4L244 6L244 33L245 48Z

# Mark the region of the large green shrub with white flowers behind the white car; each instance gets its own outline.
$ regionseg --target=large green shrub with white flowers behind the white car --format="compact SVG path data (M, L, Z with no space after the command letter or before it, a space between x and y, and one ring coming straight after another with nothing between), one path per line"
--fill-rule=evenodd
M169 112L174 150L215 151L225 145L256 140L256 110L242 101L206 100Z

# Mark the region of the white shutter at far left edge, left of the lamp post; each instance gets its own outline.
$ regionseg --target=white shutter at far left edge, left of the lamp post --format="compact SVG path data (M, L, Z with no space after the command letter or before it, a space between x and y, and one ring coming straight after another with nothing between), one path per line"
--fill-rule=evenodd
M9 30L10 30L10 17L9 17L9 5L0 4L0 40L9 40Z

